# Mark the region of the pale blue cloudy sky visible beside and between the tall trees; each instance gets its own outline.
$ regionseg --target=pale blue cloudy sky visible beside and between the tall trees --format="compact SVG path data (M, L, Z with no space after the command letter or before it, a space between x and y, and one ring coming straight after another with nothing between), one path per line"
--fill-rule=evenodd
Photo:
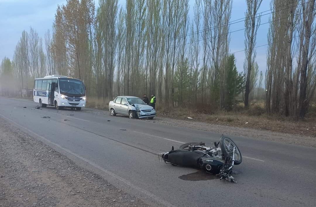
M190 16L193 16L194 0L190 0ZM66 0L0 0L0 59L7 56L13 58L16 43L21 37L23 30L28 31L32 26L43 38L44 34L50 29L57 5L65 4ZM119 0L120 5L125 5L125 0ZM96 0L96 6L98 0ZM270 9L270 1L263 0L259 12ZM231 21L245 17L246 0L234 0ZM270 13L270 11L264 14ZM257 46L267 43L267 32L269 15L261 18L261 25L258 29ZM244 22L231 25L231 32L243 29ZM244 50L244 30L231 33L230 52ZM257 62L259 70L265 72L266 68L266 49L267 47L257 48ZM235 53L236 66L239 71L243 71L245 52Z

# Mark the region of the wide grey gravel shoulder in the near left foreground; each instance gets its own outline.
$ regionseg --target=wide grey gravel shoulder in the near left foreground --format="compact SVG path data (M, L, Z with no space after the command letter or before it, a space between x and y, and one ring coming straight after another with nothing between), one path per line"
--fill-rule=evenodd
M0 206L148 204L0 118Z

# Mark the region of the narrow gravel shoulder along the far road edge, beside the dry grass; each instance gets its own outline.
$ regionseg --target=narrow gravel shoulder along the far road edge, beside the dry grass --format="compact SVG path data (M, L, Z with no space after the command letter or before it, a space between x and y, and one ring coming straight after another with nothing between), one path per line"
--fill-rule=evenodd
M95 113L95 114L106 114L110 115L109 111L106 110L98 110L92 108L85 108L83 112ZM190 119L188 121L166 118L157 116L154 120L139 120L139 121L150 121L158 124L166 124L177 127L185 127L203 131L216 132L219 134L225 135L234 135L234 136L244 136L250 137L254 139L260 140L268 140L268 141L277 141L286 144L294 144L305 147L314 147L316 148L316 137L304 136L304 135L293 135L281 132L272 132L270 130L264 129L253 129L248 127L233 127L233 126L225 126L221 124L210 124L204 122L198 122L194 119Z

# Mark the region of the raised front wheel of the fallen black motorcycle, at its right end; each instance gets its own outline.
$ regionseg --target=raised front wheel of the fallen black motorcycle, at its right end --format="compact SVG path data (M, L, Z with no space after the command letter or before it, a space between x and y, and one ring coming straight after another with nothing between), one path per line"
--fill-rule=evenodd
M230 156L230 154L233 152L234 147L236 147L234 164L239 165L242 162L240 150L232 139L227 136L222 136L219 141L219 145L225 157Z

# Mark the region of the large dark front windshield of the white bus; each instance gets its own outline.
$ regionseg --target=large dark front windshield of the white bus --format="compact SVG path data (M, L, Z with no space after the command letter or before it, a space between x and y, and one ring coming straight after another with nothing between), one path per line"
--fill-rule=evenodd
M59 78L59 90L64 94L85 94L82 81L70 78Z

